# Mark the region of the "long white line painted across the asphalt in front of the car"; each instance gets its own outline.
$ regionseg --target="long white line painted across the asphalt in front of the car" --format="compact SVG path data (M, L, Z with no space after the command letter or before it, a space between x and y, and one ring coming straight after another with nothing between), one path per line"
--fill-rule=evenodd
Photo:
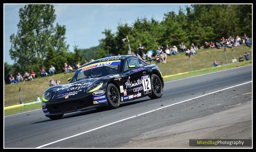
M160 110L160 109L163 109L163 108L166 108L166 107L170 107L170 106L173 106L173 105L177 105L177 104L180 104L180 103L189 101L189 100L193 100L193 99L196 99L196 98L200 98L200 97L203 97L203 96L212 94L212 93L216 93L216 92L219 92L219 91L227 90L227 89L234 88L234 87L237 87L237 86L240 86L240 85L244 85L244 84L248 84L248 83L251 83L251 82L252 82L252 81L249 81L249 82L246 82L246 83L243 83L243 84L238 84L238 85L231 86L231 87L228 87L228 88L225 88L225 89L222 89L222 90L218 90L218 91L214 91L214 92L211 92L211 93L207 93L207 94L204 94L204 95L195 97L195 98L191 98L191 99L188 99L188 100L180 101L180 102L177 102L177 103L174 103L174 104L165 106L165 107L157 108L157 109L154 109L154 110L151 110L151 111L148 111L148 112L139 114L139 115L131 116L131 117L128 117L128 118L125 118L125 119L122 119L122 120L118 120L118 121L113 122L113 123L110 123L110 124L106 124L106 125L103 125L103 126L94 128L94 129L92 129L92 130L88 130L88 131L86 131L86 132L81 132L81 133L78 133L78 134L76 134L76 135L73 135L73 136L70 136L70 137L67 137L67 138L63 138L63 139L60 139L60 140L57 140L57 141L53 141L53 142L50 142L50 143L48 143L48 144L45 144L45 145L42 145L42 146L39 146L39 147L36 147L36 148L42 148L42 147L51 145L51 144L53 144L53 143L56 143L56 142L59 142L59 141L62 141L62 140L66 140L66 139L69 139L69 138L72 138L72 137L76 137L76 136L79 136L79 135L84 134L84 133L87 133L87 132L91 132L91 131L94 131L94 130L97 130L97 129L100 129L100 128L109 126L109 125L111 125L111 124L116 124L116 123L122 122L122 121L124 121L124 120L128 120L128 119L131 119L131 118L134 118L134 117L137 117L137 116L141 116L141 115L145 115L145 114L148 114L148 113L153 112L153 111L156 111L156 110Z

